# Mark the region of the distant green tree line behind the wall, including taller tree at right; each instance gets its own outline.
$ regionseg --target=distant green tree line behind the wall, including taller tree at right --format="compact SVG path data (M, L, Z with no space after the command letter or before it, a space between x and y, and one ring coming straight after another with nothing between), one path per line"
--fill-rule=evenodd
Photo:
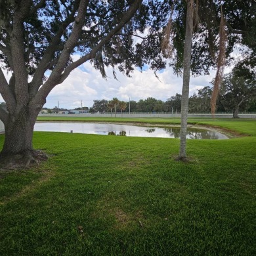
M198 93L190 96L188 104L189 113L211 112L212 87L205 86ZM256 81L254 75L241 74L241 69L234 69L224 75L217 100L217 112L232 112L233 117L238 117L238 112L256 111ZM165 102L156 98L148 97L138 102L113 100L94 100L93 107L89 112L125 112L125 113L180 113L181 95L177 93Z

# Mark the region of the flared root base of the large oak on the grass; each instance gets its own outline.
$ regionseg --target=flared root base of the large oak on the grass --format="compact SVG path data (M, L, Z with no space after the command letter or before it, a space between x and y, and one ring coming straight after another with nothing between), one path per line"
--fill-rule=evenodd
M26 150L20 154L1 154L0 169L26 169L47 159L47 154L41 150Z

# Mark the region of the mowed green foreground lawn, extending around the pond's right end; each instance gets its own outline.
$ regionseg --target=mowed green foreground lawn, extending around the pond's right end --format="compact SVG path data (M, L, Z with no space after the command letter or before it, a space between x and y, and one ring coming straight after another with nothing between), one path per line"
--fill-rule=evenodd
M195 121L251 136L182 163L179 139L36 132L49 160L0 173L0 255L256 255L255 121Z

